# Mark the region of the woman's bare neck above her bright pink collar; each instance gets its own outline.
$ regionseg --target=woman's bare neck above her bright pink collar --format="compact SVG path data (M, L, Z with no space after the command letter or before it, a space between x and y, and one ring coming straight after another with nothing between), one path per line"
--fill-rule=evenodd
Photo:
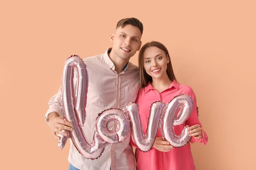
M158 93L161 93L162 91L164 91L171 84L172 84L172 80L170 80L168 76L164 78L158 78L158 79L154 79L152 77L151 85L158 91Z

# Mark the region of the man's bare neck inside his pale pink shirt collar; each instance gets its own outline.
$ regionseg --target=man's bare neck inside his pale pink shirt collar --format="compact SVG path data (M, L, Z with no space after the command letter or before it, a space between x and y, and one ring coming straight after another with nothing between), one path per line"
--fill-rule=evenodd
M122 59L121 57L117 56L113 50L111 50L108 56L114 63L117 74L121 73L125 69L125 65L129 62L129 59Z

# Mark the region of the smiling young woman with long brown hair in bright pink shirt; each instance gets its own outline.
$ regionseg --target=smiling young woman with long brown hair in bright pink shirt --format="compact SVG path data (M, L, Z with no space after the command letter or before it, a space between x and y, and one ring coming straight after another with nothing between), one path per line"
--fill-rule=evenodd
M189 125L189 135L192 136L190 142L207 144L208 136L198 120L195 94L192 88L176 81L167 48L156 41L143 45L139 53L139 69L141 88L136 102L139 105L144 133L153 102L167 103L177 95L188 94L193 99L193 110L186 122L174 127L175 133L179 135L183 127ZM153 149L142 152L136 148L135 158L137 170L195 170L190 144L173 148L162 138L160 129L157 132Z

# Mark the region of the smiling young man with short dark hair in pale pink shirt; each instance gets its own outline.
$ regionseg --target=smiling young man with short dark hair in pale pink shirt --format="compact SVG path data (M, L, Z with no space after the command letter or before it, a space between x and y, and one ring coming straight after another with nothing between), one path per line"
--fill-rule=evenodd
M139 91L139 70L129 59L140 50L143 24L136 18L125 18L117 23L111 34L112 48L105 54L84 59L88 71L88 92L84 134L88 142L94 136L94 123L98 114L110 108L124 108L135 102ZM76 82L75 82L76 83ZM58 128L73 130L72 124L62 119L61 91L49 101L45 119L51 127L52 135L67 135ZM134 170L134 153L130 136L118 144L105 147L99 159L84 159L70 142L68 161L70 170Z

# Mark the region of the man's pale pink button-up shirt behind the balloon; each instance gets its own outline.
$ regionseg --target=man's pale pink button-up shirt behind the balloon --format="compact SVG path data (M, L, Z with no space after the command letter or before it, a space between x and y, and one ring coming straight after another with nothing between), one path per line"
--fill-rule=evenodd
M135 102L139 91L138 67L128 62L127 67L120 74L115 71L115 65L108 56L111 48L105 54L83 59L88 71L88 93L86 105L86 120L84 134L89 142L93 141L94 124L98 114L110 108L124 108L131 102ZM76 85L76 79L74 79ZM52 111L63 116L61 112L61 91L49 100L48 115ZM68 161L80 170L134 170L134 153L130 142L130 136L122 143L105 147L99 159L84 159L76 150L70 140L70 153ZM57 145L56 145L57 147Z

